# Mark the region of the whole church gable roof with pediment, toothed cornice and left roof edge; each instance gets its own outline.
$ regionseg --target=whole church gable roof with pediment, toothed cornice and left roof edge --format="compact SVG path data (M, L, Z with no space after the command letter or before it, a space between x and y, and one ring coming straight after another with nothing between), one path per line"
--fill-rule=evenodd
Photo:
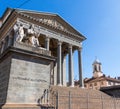
M1 25L4 24L4 21L8 18L8 16L12 16L13 14L17 16L17 18L23 19L24 21L26 20L31 23L38 23L39 26L43 26L44 28L60 34L62 33L68 37L70 36L73 39L79 41L86 39L80 32L74 29L59 15L51 13L8 8L4 14L4 17L0 19L2 21Z

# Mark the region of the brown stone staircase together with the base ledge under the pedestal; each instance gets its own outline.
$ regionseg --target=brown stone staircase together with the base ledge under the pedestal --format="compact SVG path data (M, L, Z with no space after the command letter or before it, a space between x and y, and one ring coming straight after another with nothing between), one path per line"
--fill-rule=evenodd
M8 104L2 109L120 109L120 98L93 89L51 86L38 104Z

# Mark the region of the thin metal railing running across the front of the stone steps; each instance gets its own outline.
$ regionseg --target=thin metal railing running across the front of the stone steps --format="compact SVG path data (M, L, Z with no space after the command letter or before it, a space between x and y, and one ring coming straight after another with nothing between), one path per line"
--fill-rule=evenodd
M52 90L45 90L39 100L40 105L52 106L50 109L120 109L120 98L95 94L86 95L72 92L60 93ZM49 108L45 108L49 109Z

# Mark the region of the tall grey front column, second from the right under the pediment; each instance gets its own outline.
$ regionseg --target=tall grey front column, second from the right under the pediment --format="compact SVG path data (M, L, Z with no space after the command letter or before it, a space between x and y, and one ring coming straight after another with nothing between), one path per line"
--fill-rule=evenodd
M69 45L69 86L74 87L74 71L73 71L72 45Z

